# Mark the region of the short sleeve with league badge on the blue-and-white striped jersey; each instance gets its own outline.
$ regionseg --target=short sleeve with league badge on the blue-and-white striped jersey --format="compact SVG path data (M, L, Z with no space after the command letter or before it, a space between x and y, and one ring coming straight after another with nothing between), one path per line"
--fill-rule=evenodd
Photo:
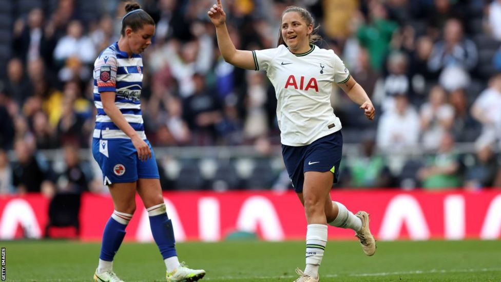
M117 58L103 55L94 64L94 79L99 92L115 92L117 85Z

